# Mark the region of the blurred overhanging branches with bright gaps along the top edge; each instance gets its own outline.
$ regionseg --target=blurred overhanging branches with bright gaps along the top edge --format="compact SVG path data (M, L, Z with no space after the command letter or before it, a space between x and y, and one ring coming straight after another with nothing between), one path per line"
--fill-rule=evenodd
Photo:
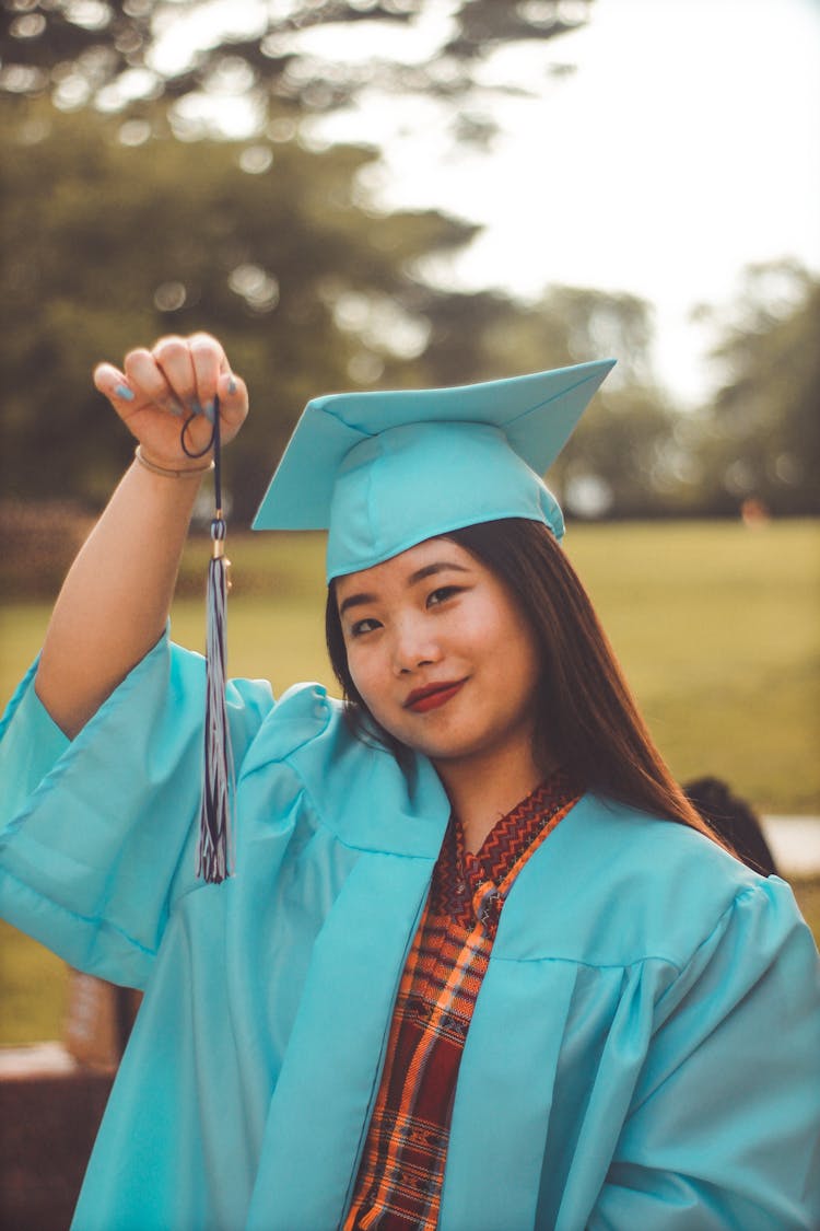
M486 113L471 122L468 101L495 90L479 84L479 64L499 46L550 41L586 22L594 0L2 0L0 91L49 95L66 107L141 110L227 89L252 98L259 119L293 107L322 113L348 105L365 87L459 101L455 123L462 140L487 140ZM401 39L396 54L376 48L366 60L345 63L338 38L355 25L374 31L435 32L419 59ZM168 31L179 37L168 55ZM316 31L334 38L316 42ZM328 47L327 54L317 48ZM404 59L402 59L402 52ZM563 73L566 64L545 65Z

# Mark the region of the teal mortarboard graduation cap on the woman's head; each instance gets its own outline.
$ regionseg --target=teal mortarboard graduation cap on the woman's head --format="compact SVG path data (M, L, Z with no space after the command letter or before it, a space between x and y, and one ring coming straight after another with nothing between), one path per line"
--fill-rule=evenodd
M545 522L561 539L561 508L541 475L613 364L315 398L253 529L327 529L328 582L504 517Z

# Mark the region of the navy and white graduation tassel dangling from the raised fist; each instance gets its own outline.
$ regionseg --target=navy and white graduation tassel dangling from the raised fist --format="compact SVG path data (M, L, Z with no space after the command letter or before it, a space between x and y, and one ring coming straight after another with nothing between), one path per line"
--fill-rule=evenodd
M188 420L191 422L191 420ZM188 457L195 457L184 442ZM231 810L234 800L234 757L225 699L227 667L227 566L225 559L225 518L223 516L221 448L219 401L214 410L214 431L209 448L214 449L214 503L210 523L213 542L208 566L208 597L205 620L205 747L203 757L203 788L199 810L199 843L197 875L219 884L232 874L234 852Z

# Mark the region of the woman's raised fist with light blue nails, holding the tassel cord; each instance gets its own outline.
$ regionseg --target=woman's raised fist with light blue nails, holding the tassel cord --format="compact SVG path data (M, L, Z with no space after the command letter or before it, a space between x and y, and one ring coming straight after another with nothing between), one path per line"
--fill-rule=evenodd
M191 337L161 337L151 350L139 348L125 356L120 372L111 363L95 369L93 383L114 407L129 432L136 437L149 462L173 470L202 468L213 431L214 405L219 398L220 436L231 441L248 411L245 382L234 375L225 351L209 334Z

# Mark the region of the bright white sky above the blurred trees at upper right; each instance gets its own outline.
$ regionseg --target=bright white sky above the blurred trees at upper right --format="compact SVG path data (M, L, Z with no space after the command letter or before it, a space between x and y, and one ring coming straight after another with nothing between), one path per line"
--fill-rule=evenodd
M252 23L258 5L234 0L231 20ZM422 60L447 9L433 0L414 31L374 23L373 42L363 25L300 41L331 62L366 63L375 46ZM575 33L488 62L488 82L538 95L493 101L505 135L489 156L454 149L433 101L365 95L320 130L385 144L371 185L385 204L486 224L444 271L461 284L649 299L661 378L697 399L708 339L691 309L729 302L749 262L794 256L820 272L820 0L596 0L591 12ZM550 75L554 63L578 68Z

